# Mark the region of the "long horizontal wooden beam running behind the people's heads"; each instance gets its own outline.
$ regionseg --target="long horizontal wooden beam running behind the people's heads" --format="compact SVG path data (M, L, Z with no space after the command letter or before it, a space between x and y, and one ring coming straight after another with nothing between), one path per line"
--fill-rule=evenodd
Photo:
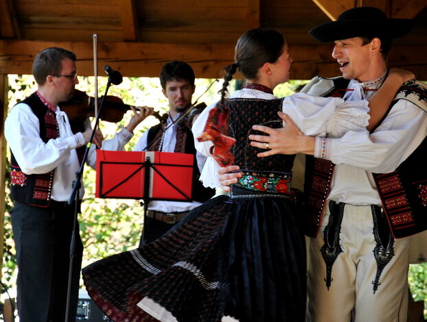
M91 42L43 42L0 40L0 74L30 74L35 55L46 47L67 48L78 57L79 75L93 74ZM332 45L292 45L292 79L310 79L314 75L340 75L331 57ZM417 71L418 79L427 79L427 45L394 45L389 66ZM98 42L98 64L108 64L125 77L158 77L161 66L170 60L189 62L197 77L222 77L224 66L233 62L234 44L181 45L143 42Z

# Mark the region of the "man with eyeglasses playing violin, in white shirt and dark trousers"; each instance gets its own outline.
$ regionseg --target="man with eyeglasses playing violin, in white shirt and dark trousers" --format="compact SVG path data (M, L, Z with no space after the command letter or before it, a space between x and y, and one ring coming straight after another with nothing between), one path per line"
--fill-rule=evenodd
M78 84L76 55L58 47L34 58L32 72L38 89L16 104L5 121L11 150L10 195L12 230L18 264L17 304L21 322L65 321L69 277L69 247L75 206L67 206L81 158L77 149L89 142L91 128L73 133L58 103L73 97ZM132 130L143 119L139 109L127 127L111 140L95 132L93 143L108 150L123 150ZM134 111L135 112L135 111ZM90 124L90 123L89 123ZM87 164L95 165L95 145ZM84 194L80 188L80 198ZM69 319L76 321L82 241L76 236Z

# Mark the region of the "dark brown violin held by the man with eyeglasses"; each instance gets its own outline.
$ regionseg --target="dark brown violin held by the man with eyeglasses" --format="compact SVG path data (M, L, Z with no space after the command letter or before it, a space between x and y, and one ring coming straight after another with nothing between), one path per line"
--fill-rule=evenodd
M102 97L98 99L101 102ZM89 116L95 116L95 97L90 97L82 90L74 90L74 95L69 101L58 104L60 109L67 113L71 122L84 121ZM99 106L99 105L98 105ZM102 104L100 119L102 121L117 123L122 121L124 114L135 106L125 104L119 97L107 95ZM168 114L160 115L159 112L153 111L153 115L164 121Z

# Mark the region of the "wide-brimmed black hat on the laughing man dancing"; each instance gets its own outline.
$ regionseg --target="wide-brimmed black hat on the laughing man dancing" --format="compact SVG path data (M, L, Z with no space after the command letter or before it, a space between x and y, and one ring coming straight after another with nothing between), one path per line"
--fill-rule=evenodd
M408 34L411 19L387 18L378 8L359 7L343 12L336 21L319 25L310 35L319 42L331 42L354 37L397 38Z

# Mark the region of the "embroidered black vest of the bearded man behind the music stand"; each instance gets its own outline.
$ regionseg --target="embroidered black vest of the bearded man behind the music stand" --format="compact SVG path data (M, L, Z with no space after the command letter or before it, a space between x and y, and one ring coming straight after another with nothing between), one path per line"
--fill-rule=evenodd
M181 123L181 122L180 122ZM214 189L206 188L200 182L200 171L198 171L196 160L196 148L194 147L194 138L191 129L183 121L177 130L176 145L174 152L189 153L194 156L193 180L192 180L192 199L198 202L205 202L215 193ZM148 151L159 151L162 144L162 135L166 122L159 123L148 129L147 146Z

